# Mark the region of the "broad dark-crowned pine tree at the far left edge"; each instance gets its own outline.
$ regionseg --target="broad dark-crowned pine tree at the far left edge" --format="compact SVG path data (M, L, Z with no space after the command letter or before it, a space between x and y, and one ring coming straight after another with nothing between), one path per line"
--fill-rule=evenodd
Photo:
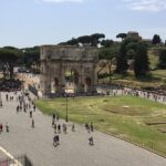
M12 46L4 46L0 49L0 63L3 71L3 76L7 73L10 75L10 80L13 79L13 68L17 65L19 58L21 58L22 52Z

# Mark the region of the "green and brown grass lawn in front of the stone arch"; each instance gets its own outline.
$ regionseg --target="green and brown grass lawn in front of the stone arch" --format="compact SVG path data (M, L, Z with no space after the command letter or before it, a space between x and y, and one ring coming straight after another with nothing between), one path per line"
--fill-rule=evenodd
M66 115L66 100L40 100L37 106L45 114ZM135 96L69 98L69 120L85 124L93 122L101 132L120 136L166 156L166 105Z

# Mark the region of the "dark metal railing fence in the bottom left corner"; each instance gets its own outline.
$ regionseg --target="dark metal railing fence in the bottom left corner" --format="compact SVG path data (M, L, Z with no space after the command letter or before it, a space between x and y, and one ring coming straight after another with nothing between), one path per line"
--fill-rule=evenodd
M27 155L15 157L14 159L0 159L0 166L33 166Z

